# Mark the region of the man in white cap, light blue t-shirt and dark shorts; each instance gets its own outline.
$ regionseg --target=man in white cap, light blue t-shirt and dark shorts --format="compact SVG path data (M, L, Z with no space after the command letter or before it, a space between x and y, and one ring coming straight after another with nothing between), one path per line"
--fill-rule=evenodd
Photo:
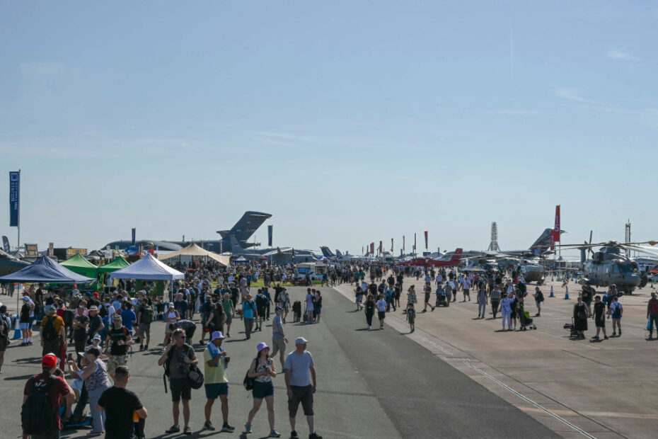
M301 407L308 423L308 439L322 439L313 426L313 394L316 392L316 369L313 355L306 350L308 341L304 337L295 340L295 350L288 354L284 370L288 390L288 416L290 421L290 438L299 438L295 431L295 416Z

